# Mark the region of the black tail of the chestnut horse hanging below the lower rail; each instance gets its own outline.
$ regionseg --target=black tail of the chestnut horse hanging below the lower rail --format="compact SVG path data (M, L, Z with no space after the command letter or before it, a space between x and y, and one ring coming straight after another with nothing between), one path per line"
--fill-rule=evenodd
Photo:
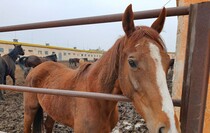
M42 125L43 125L43 110L42 107L40 106L34 118L33 133L41 133Z

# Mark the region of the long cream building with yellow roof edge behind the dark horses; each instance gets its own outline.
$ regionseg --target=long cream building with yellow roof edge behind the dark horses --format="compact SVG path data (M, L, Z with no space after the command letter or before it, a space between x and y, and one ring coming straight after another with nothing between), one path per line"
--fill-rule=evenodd
M58 57L58 60L69 60L69 58L88 58L88 60L93 61L94 59L99 59L103 53L102 52L93 52L88 50L76 50L62 47L53 47L53 46L44 46L38 44L28 44L28 43L17 43L10 41L0 40L0 54L8 54L10 50L14 48L13 44L21 44L22 48L25 51L24 56L36 55L39 57L51 55L55 53Z

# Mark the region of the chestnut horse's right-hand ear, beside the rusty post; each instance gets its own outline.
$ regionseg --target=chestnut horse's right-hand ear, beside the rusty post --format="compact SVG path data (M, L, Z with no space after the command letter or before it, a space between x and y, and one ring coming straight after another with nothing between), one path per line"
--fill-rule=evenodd
M163 7L159 17L155 20L155 22L153 22L151 27L155 29L158 33L160 33L163 29L165 18L166 18L166 9L165 7Z

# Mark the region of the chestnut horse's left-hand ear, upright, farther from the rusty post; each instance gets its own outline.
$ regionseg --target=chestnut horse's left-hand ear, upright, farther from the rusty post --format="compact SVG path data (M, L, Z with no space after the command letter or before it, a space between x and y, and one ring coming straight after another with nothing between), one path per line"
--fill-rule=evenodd
M129 37L135 30L135 26L134 26L134 14L132 11L132 5L130 4L122 17L122 25L123 25L123 30L125 31L125 34Z

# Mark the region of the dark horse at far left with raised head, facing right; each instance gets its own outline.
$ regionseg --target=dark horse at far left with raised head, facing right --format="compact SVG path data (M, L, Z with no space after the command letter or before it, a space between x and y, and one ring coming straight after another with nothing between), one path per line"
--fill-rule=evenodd
M6 76L12 78L15 85L15 61L19 55L24 55L21 45L14 45L15 48L9 54L0 56L0 84L6 84ZM3 91L0 91L0 100L3 100Z

